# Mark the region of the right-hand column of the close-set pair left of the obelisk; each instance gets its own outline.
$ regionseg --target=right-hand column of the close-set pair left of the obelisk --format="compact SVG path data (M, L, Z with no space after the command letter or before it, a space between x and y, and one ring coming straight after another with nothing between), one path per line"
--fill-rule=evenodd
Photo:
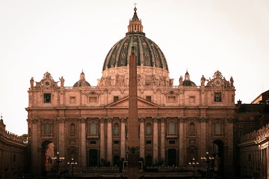
M107 118L107 161L112 162L112 118Z

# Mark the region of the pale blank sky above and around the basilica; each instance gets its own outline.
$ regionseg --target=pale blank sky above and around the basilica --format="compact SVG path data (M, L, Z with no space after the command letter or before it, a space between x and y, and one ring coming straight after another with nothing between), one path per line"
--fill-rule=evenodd
M233 76L235 99L269 89L268 0L0 0L0 113L6 129L27 133L30 78L47 71L65 86L81 70L97 85L111 47L128 31L134 3L143 32L164 53L170 78L186 70L200 85L219 70Z

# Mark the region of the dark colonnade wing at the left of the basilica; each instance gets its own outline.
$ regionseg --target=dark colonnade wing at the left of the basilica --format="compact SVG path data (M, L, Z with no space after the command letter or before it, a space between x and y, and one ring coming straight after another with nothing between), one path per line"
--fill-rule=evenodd
M27 171L27 145L22 137L6 131L6 125L0 120L0 178L24 176Z

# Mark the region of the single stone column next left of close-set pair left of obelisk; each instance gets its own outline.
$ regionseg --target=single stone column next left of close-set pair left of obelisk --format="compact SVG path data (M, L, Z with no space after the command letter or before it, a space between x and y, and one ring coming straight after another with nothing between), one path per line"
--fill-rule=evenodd
M80 151L81 151L81 167L87 166L87 152L86 152L86 119L80 118L81 123L81 140L80 140Z

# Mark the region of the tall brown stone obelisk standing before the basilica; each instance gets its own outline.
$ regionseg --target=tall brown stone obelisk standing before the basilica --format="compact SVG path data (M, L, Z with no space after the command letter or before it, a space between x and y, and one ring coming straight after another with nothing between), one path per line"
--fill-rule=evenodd
M135 45L129 61L128 179L139 179L139 139L137 115L137 73Z

